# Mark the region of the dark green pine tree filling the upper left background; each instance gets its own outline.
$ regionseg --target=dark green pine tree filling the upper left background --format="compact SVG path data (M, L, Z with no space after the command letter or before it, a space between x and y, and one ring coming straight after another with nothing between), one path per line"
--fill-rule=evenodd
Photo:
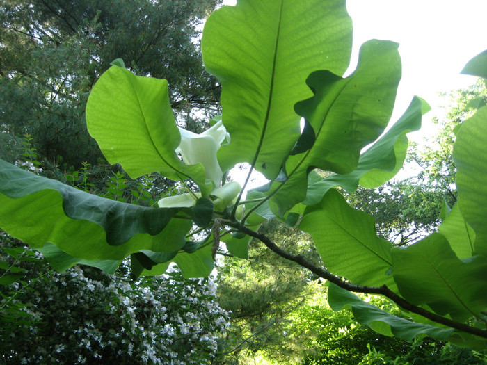
M196 109L216 108L220 88L202 66L198 27L218 2L0 1L3 159L15 161L29 133L40 156L55 164L97 163L102 154L84 110L115 58L136 74L167 79L182 122Z

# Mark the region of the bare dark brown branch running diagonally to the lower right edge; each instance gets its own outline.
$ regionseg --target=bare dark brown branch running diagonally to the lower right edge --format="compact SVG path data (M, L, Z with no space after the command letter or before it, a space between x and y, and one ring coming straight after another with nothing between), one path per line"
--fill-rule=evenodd
M389 298L397 305L399 305L399 307L406 309L406 311L419 314L420 316L423 316L424 318L428 318L433 322L440 323L448 327L452 327L456 330L474 334L476 336L484 337L485 339L487 339L486 330L480 330L479 328L471 327L469 325L465 325L464 323L452 321L449 318L438 316L438 314L434 314L431 311L426 311L426 309L422 307L417 307L416 305L411 304L404 298L401 298L399 295L391 291L385 285L376 287L376 286L362 286L362 285L351 284L350 282L346 282L344 281L344 279L337 277L336 275L333 275L328 270L314 265L314 263L311 263L310 261L305 259L305 257L301 256L301 254L294 255L285 250L282 250L282 248L276 245L276 243L273 243L273 241L271 241L265 234L260 234L258 232L253 231L252 229L248 229L245 225L241 224L240 222L232 222L232 221L225 220L224 224L239 229L240 232L248 234L253 238L257 238L259 241L264 243L264 245L266 245L267 248L269 248L271 251L278 254L280 257L284 257L289 261L294 261L295 263L298 263L298 265L303 266L303 268L307 268L312 273L318 275L323 279L328 280L329 282L332 282L337 286L340 286L340 288L342 289L345 289L347 291L353 291L356 293L384 295L385 297Z

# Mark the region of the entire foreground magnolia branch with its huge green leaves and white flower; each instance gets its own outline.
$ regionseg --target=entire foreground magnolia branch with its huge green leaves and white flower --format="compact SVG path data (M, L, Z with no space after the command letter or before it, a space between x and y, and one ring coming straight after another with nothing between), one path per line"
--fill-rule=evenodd
M159 208L134 206L1 162L1 227L39 250L54 243L58 259L67 255L65 262L104 266L100 260L131 255L135 276L161 274L170 262L186 277L209 275L220 238L234 234L230 250L246 257L247 235L329 280L330 306L352 307L359 322L380 333L408 340L428 334L485 348L487 107L463 122L454 147L454 212L475 234L474 256L468 257L464 234L461 243L450 242L458 236L455 229L447 238L434 233L394 248L340 191L374 188L392 178L406 156L406 133L418 129L428 106L413 99L383 133L401 74L397 44L366 42L356 72L343 78L351 33L344 0L241 0L217 10L205 25L202 54L222 84L222 117L200 134L175 124L168 81L134 76L116 61L88 99L88 130L129 176L158 172L177 181L182 194L163 197ZM471 64L469 72L480 64L473 71ZM235 163L250 163L242 188L225 178ZM271 181L244 200L253 170ZM108 194L120 200L125 177L113 179ZM310 233L321 261L284 250L255 231L274 217ZM453 225L445 220L447 232ZM385 295L413 321L350 291Z

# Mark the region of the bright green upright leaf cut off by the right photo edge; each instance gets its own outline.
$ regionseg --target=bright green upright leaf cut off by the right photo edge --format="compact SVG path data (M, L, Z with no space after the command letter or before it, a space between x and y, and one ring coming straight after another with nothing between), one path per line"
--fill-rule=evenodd
M475 252L487 255L487 106L463 122L453 159L461 214L475 231Z

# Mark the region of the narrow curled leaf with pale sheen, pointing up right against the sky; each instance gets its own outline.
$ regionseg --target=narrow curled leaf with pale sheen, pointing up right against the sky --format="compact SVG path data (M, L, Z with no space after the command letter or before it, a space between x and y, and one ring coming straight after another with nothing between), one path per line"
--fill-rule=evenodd
M335 186L353 192L358 185L376 188L392 179L401 170L408 150L407 133L421 127L421 117L430 110L423 99L414 97L406 112L374 145L360 155L355 171L346 174L331 174L324 179L316 175L308 177L308 192L304 204L313 205Z

